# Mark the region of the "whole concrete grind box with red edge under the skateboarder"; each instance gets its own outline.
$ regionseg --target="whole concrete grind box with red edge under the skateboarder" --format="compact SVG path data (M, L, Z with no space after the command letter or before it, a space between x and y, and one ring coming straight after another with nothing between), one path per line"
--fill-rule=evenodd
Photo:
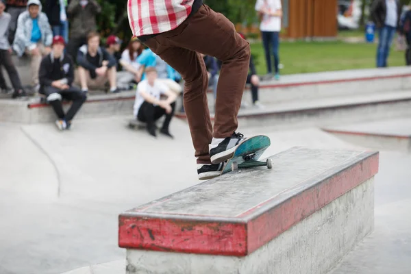
M378 153L271 158L120 214L127 273L325 273L371 231Z

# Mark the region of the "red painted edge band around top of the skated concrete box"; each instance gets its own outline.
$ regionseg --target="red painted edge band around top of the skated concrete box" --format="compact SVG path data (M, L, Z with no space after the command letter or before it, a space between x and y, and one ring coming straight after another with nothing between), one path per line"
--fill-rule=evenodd
M119 247L247 256L373 177L378 172L378 164L379 153L369 155L368 158L244 223L119 216Z

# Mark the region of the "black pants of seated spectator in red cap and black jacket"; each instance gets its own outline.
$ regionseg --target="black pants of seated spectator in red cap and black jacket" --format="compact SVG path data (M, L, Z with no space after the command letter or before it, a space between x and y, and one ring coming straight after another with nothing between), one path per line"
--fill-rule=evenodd
M73 120L75 114L77 114L79 109L82 107L84 101L86 101L87 99L86 95L84 94L84 92L82 92L82 90L79 90L78 88L75 88L73 86L66 90L59 90L58 88L55 88L53 86L46 86L41 93L47 96L47 101L53 107L53 110L55 114L57 114L58 118L64 119L66 121ZM61 95L61 99L64 98L66 100L73 101L73 103L71 104L71 108L69 109L67 114L64 114L62 100L50 96L53 94Z

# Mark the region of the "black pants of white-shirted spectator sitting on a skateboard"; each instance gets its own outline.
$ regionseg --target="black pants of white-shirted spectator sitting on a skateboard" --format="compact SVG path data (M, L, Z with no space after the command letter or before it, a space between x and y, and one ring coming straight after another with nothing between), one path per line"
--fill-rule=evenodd
M154 125L155 121L157 121L163 115L165 115L166 119L164 119L162 128L169 129L171 119L174 116L175 102L171 103L171 109L172 109L171 113L166 114L166 110L164 110L164 108L161 108L158 105L154 106L152 103L144 102L141 104L140 110L138 110L137 120L145 122L147 123L148 127L151 127Z

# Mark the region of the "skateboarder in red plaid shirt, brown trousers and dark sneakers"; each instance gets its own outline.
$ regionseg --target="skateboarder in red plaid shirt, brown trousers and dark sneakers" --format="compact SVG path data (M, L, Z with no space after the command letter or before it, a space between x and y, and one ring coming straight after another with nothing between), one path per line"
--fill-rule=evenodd
M247 139L236 131L249 71L249 42L203 0L128 0L127 14L133 36L184 79L184 111L199 179L219 176L223 163ZM199 53L222 61L214 127L207 101L208 73Z

